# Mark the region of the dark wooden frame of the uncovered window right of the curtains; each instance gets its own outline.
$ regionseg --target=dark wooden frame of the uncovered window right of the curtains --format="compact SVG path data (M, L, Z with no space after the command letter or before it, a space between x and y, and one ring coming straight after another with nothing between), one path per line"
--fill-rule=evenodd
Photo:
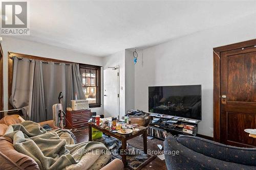
M95 78L95 86L83 86L83 87L93 87L96 90L96 104L89 104L90 108L101 107L101 66L88 65L88 64L79 64L80 77L82 80L82 72L81 69L95 69L96 70L96 78ZM92 80L91 80L92 81ZM92 82L90 82L91 84Z

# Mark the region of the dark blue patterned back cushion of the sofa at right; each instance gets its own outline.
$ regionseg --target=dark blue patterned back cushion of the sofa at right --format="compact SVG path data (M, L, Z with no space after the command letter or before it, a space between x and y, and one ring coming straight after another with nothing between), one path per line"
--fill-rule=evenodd
M185 147L219 160L256 166L256 148L239 148L194 136L180 135L177 141Z

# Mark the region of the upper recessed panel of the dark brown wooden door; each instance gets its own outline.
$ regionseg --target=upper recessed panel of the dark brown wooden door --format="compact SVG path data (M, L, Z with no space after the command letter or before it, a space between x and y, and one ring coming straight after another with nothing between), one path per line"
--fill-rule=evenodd
M256 52L228 56L228 101L256 102Z

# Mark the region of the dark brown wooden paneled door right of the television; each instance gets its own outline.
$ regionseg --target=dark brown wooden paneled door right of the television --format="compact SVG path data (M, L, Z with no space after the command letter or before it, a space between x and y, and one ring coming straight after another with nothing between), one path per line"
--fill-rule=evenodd
M254 42L256 45L255 40ZM229 46L227 51L224 49L219 52L219 140L228 145L256 146L256 139L249 137L244 131L244 129L256 129L256 46L254 45L241 48L236 46L234 50ZM215 125L216 127L218 126Z

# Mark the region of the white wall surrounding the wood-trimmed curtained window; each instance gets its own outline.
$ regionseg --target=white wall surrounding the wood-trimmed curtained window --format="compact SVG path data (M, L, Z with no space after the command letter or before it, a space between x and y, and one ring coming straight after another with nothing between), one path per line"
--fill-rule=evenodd
M65 48L51 46L43 43L21 40L10 36L3 36L2 42L4 52L4 109L8 109L8 52L22 53L38 57L53 58L59 60L72 61L77 63L103 65L103 58L89 56L81 53L76 53ZM101 78L103 87L103 69L101 69ZM102 88L103 89L103 88ZM101 93L103 93L101 89ZM101 98L101 107L92 108L97 114L103 114L103 98Z

